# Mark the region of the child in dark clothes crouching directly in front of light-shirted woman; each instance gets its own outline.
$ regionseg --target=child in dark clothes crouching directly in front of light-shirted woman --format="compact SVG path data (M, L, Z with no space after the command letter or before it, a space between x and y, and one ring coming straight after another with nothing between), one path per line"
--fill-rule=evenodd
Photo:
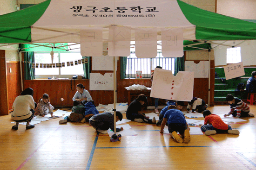
M81 101L74 101L73 103L74 107L72 108L72 111L69 116L66 116L64 120L60 120L59 124L67 123L69 122L85 122L85 107L82 105Z

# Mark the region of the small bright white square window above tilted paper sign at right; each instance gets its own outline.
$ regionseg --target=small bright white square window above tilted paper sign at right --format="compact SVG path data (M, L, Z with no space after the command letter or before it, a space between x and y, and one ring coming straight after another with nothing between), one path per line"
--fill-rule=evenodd
M241 47L227 49L227 63L241 62Z

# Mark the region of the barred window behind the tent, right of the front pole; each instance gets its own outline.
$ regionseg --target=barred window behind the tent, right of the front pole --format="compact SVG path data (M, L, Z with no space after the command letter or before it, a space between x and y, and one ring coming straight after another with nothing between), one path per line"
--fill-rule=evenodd
M150 78L151 70L156 66L172 70L174 74L175 58L162 57L162 53L158 53L156 58L137 58L135 53L131 53L127 57L126 78L135 78L136 71L142 72L142 78Z

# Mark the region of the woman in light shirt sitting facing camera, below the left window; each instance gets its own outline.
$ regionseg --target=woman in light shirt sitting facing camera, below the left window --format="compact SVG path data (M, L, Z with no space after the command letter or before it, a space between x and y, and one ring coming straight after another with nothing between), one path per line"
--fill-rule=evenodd
M73 101L81 101L83 104L85 104L87 101L93 100L89 92L84 88L84 85L81 83L76 85L77 92L74 94Z

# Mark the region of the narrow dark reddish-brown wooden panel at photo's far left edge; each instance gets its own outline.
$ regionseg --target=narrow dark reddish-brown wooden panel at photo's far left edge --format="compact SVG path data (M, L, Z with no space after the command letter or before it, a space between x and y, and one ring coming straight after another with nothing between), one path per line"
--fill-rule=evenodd
M8 114L8 91L5 50L0 50L0 115Z

